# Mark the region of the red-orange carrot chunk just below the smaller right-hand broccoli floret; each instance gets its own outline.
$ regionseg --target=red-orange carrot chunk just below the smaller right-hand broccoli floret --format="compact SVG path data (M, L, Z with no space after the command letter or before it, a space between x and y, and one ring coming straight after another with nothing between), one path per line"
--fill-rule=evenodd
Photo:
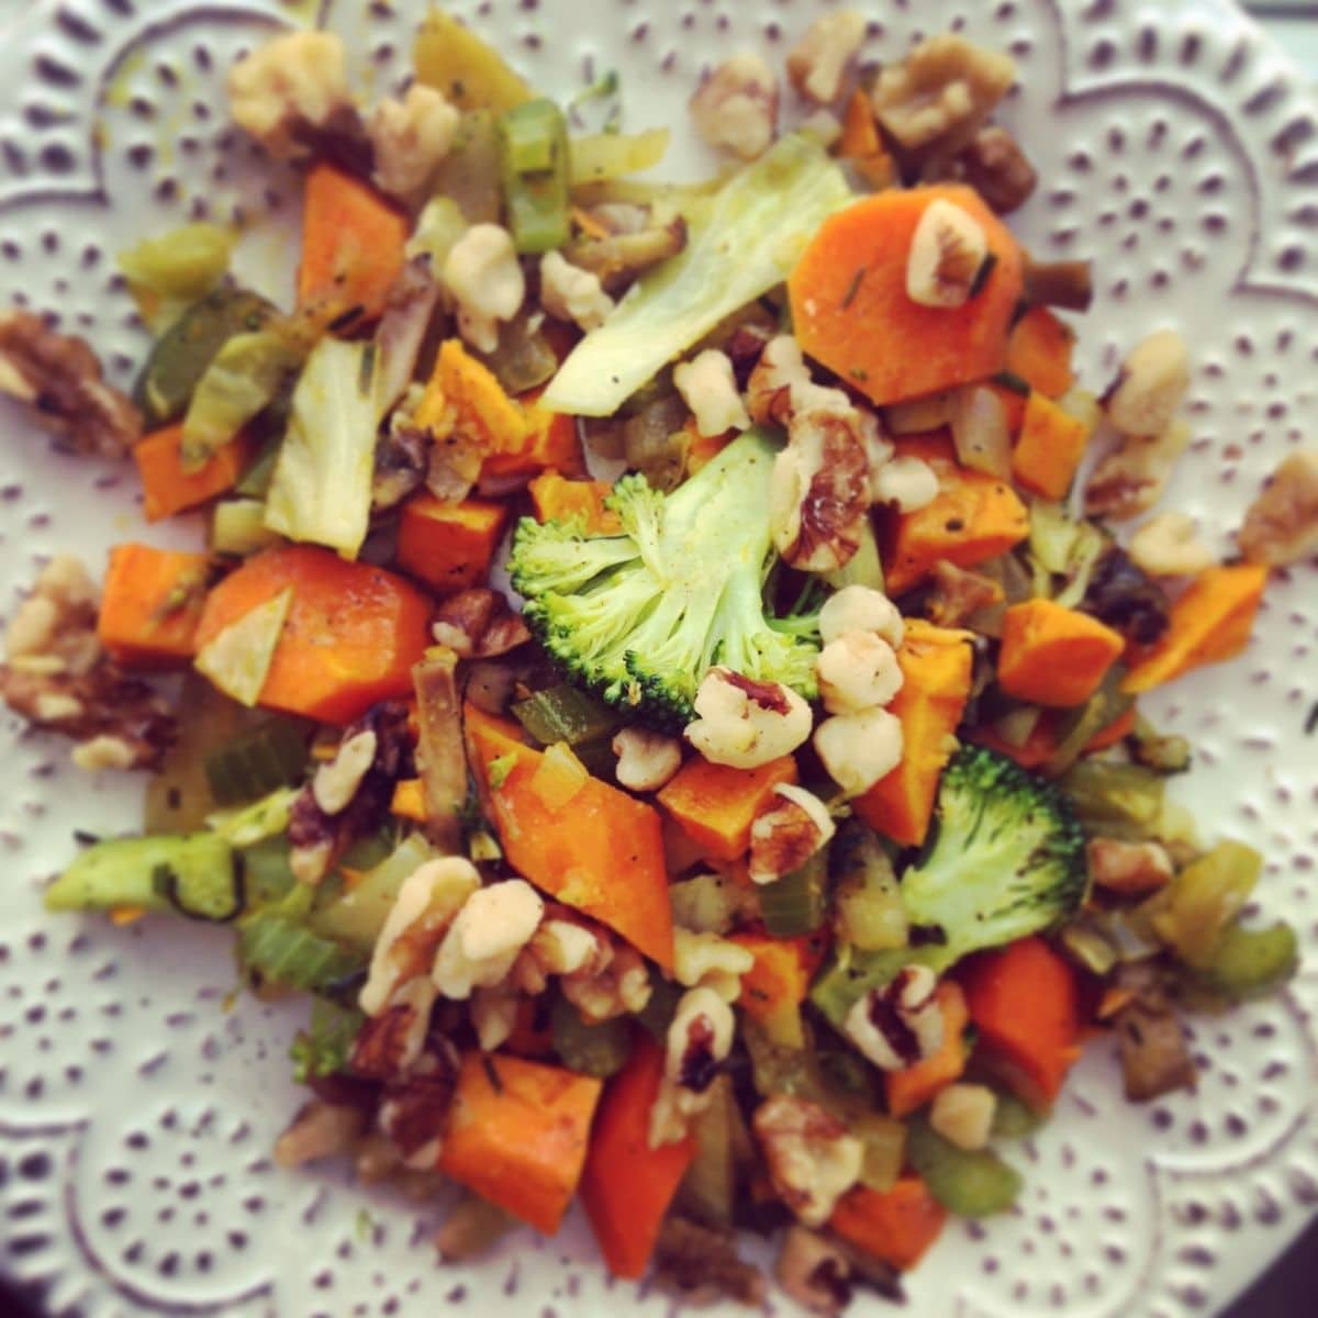
M1049 1107L1079 1056L1079 992L1066 961L1039 937L970 958L960 970L978 1046L1017 1097Z

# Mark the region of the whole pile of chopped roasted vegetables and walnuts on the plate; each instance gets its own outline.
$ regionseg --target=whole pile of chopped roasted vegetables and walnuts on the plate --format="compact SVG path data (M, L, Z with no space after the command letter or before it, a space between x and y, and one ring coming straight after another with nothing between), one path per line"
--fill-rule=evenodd
M281 36L229 92L304 167L295 304L229 232L144 241L132 401L0 319L0 389L208 526L100 588L58 558L9 625L11 708L150 774L46 904L228 924L254 991L312 1002L279 1161L459 1182L447 1257L580 1195L618 1276L755 1302L735 1232L786 1228L780 1282L834 1313L1012 1205L1087 1040L1135 1102L1191 1086L1182 1012L1294 969L1139 697L1318 550L1318 453L1227 561L1145 517L1185 344L1077 387L1087 264L1000 217L1036 183L991 123L1012 62L861 69L865 30L818 18L788 88L714 69L699 185L442 14L369 108L336 37Z

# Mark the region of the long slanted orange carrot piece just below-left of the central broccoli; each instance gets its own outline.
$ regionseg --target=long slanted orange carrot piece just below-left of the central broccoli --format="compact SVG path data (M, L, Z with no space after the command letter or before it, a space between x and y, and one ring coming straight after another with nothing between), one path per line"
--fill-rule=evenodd
M672 905L659 812L587 776L561 809L534 788L544 755L505 718L467 706L472 771L489 803L509 865L536 887L616 929L666 970L672 967ZM511 762L498 788L489 766Z

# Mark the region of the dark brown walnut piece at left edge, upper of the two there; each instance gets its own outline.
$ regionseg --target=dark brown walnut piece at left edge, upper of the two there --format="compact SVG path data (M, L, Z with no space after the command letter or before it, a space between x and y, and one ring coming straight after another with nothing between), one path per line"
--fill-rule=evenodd
M0 393L76 453L119 457L142 438L141 413L105 382L91 348L28 311L0 315Z

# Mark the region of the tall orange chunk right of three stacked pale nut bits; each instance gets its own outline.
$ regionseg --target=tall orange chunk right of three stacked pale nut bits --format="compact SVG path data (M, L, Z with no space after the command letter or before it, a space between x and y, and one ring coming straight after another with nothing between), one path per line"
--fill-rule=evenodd
M902 722L902 763L853 803L871 828L919 846L929 829L938 778L956 749L956 730L970 699L971 633L907 621L898 650L902 689L891 705Z

